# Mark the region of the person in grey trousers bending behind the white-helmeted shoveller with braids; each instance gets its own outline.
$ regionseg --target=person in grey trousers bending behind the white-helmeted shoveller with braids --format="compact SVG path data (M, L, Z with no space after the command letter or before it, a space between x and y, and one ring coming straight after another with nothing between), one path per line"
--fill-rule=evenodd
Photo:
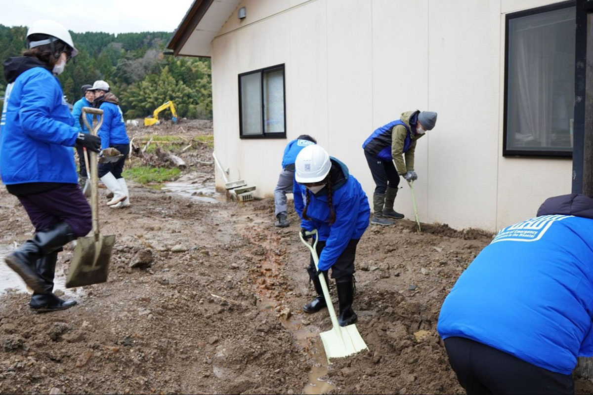
M317 140L308 134L301 134L296 139L292 140L284 149L282 155L282 172L278 177L278 183L274 190L274 205L276 206L276 223L278 227L287 227L290 222L286 218L286 194L292 193L292 184L295 178L295 159L304 147L317 144Z

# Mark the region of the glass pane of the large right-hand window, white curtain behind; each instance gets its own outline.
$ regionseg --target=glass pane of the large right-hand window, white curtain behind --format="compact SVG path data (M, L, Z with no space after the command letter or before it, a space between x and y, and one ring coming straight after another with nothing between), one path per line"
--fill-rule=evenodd
M573 114L575 8L509 23L508 149L569 147Z

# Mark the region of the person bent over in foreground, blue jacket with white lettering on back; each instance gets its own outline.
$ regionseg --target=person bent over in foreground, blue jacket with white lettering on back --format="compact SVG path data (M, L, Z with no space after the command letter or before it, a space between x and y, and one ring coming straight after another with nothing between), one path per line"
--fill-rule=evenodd
M468 394L572 394L593 356L593 199L505 227L445 298L437 330Z

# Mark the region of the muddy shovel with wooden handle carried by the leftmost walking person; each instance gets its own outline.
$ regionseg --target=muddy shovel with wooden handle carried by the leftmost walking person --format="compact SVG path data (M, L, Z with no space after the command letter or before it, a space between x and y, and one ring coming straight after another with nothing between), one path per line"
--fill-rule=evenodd
M86 115L98 115L98 122L95 127L88 124ZM97 131L103 123L103 110L91 107L82 107L82 119L91 131L93 136L97 136ZM91 186L91 211L93 212L93 236L78 237L76 240L76 249L70 264L68 278L66 278L66 288L82 287L82 285L98 284L107 281L109 272L109 259L115 243L115 236L101 236L99 234L99 198L97 191L97 153L91 152L89 160L87 150L84 150L87 169L90 169L88 182Z

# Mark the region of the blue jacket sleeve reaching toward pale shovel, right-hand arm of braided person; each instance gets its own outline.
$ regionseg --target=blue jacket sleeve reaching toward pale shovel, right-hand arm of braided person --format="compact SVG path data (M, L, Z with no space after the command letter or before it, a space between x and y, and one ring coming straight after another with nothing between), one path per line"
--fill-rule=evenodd
M356 228L359 206L359 199L345 198L339 207L336 207L336 221L330 226L330 236L319 256L319 270L329 269L346 249Z

